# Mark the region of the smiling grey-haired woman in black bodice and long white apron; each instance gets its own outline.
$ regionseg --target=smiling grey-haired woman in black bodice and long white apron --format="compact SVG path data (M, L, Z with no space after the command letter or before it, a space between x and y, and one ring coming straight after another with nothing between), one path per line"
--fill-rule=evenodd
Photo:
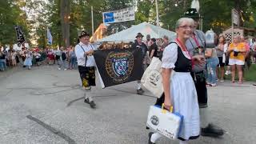
M192 63L205 62L205 59L201 55L191 57L186 49L186 40L193 29L193 19L180 18L176 24L177 38L166 46L162 54L164 107L170 110L173 106L174 112L182 114L184 118L178 135L180 144L187 144L188 140L198 138L200 134L198 96L190 71ZM161 134L150 132L149 144L161 137Z

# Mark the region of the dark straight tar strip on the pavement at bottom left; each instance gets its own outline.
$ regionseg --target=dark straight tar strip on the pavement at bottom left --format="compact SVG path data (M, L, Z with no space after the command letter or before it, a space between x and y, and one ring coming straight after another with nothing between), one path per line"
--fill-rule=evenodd
M37 122L40 126L43 126L44 128L46 128L46 130L49 130L50 132L57 134L59 137L65 139L66 142L68 142L69 144L76 144L76 142L74 142L74 139L70 138L66 134L63 134L61 131L54 129L54 127L47 125L45 122L42 122L38 118L34 118L31 115L27 115L26 118L29 118L30 120L32 120L34 122Z

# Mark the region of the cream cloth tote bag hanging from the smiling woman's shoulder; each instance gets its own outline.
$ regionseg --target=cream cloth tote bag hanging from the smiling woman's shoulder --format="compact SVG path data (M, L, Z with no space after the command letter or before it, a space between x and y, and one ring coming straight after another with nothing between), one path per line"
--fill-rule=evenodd
M161 65L160 59L153 57L141 79L142 85L157 98L160 98L163 93Z

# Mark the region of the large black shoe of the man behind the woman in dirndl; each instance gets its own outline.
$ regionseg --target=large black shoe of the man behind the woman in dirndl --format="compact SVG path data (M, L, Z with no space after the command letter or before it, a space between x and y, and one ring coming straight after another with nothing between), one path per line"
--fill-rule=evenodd
M206 128L201 128L201 135L206 137L219 137L224 134L224 130L222 130L218 126L214 126L213 124L209 124Z

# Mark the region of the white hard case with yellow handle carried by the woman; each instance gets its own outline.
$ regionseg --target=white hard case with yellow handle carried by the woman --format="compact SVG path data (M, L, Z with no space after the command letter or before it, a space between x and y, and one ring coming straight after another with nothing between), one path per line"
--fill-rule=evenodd
M170 110L172 111L172 110ZM146 126L170 139L177 139L183 122L183 116L163 110L163 106L150 106Z

